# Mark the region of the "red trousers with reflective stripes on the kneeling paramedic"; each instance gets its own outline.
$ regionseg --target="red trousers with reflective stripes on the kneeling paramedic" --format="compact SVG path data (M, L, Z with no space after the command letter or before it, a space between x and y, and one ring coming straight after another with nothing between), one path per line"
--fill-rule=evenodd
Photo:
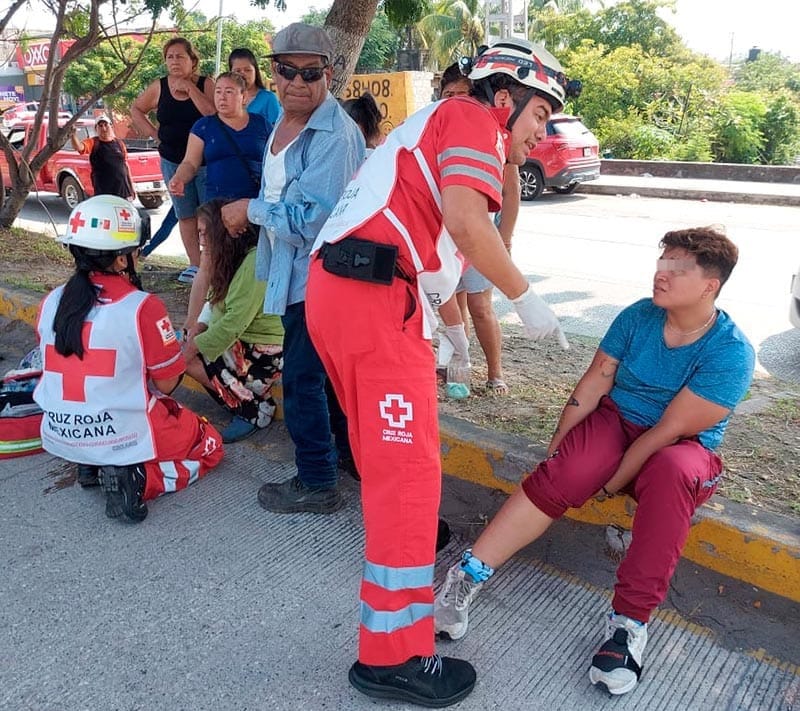
M158 398L148 413L156 458L144 463L144 498L185 489L222 459L222 437L214 426L170 397Z

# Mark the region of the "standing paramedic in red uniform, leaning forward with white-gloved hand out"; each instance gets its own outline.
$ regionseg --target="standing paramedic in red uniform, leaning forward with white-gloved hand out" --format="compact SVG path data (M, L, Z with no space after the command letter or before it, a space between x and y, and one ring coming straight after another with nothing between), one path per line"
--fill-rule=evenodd
M488 106L431 104L364 163L317 238L306 303L362 476L366 561L350 683L422 706L460 701L476 676L434 654L441 464L429 300L452 295L457 250L513 301L529 336L566 347L489 216L501 207L503 166L522 164L544 138L566 79L552 55L516 39L479 55L470 78Z

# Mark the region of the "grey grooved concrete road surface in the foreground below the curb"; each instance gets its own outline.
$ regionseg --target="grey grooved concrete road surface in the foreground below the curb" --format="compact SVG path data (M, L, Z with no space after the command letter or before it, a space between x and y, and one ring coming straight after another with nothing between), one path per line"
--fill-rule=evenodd
M374 702L347 683L363 548L357 484L343 479L347 504L331 516L266 513L259 485L291 471L275 423L229 446L218 470L188 490L152 502L142 524L126 525L105 518L102 494L81 490L69 465L48 455L0 462L0 708L412 708ZM450 506L462 498L477 520L488 515L479 495L454 484L446 482ZM739 647L670 609L651 624L639 687L619 698L592 687L613 563L600 586L564 572L574 526L544 543L552 555L505 566L478 598L470 634L439 645L478 669L457 708L800 708L800 671L776 658L769 635L748 633ZM439 583L464 543L457 527ZM548 558L558 567L541 562ZM697 570L682 566L675 588L684 594ZM688 604L697 619L697 603ZM735 624L763 632L767 623L743 610ZM797 616L783 625L796 639Z

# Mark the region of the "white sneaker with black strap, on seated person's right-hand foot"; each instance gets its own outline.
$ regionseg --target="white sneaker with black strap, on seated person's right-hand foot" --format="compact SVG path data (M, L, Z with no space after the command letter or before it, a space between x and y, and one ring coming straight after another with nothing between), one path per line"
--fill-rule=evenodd
M592 657L589 681L611 694L627 694L642 675L647 624L612 612L606 619L606 641Z

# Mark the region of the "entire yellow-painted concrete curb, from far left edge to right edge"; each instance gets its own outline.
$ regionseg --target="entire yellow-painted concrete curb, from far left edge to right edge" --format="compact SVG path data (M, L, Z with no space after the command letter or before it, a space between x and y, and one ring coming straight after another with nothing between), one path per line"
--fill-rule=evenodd
M0 316L33 326L40 295L0 287ZM185 385L202 388L188 379ZM507 493L544 458L544 450L516 435L440 416L442 471ZM567 516L597 525L631 527L635 504L627 497L591 501ZM796 521L720 497L702 507L683 553L718 573L800 602L800 525Z

